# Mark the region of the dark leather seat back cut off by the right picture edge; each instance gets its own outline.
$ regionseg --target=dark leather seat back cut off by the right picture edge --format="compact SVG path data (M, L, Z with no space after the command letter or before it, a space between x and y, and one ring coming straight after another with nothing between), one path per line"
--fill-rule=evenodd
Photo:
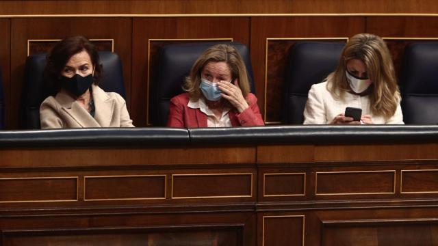
M404 124L438 124L438 42L407 44L403 59Z

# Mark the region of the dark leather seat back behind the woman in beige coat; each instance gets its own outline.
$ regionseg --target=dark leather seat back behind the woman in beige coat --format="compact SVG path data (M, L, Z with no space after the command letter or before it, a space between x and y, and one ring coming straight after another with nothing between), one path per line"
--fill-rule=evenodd
M47 54L29 55L25 66L25 81L23 88L23 128L40 128L41 102L51 95L44 86L42 74L46 66ZM100 63L103 67L103 77L99 87L105 92L117 92L126 98L123 83L123 68L120 57L110 51L99 51Z

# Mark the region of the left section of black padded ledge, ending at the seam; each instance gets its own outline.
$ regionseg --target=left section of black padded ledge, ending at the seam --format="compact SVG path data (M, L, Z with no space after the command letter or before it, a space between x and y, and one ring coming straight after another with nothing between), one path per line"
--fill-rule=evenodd
M70 128L0 131L0 147L172 146L190 143L184 128Z

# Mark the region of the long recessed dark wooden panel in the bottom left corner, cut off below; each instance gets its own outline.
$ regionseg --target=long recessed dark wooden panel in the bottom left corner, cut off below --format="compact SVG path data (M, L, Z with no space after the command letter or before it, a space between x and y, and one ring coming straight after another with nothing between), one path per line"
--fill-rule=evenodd
M240 226L106 228L3 232L2 245L242 245ZM129 243L128 243L129 242Z

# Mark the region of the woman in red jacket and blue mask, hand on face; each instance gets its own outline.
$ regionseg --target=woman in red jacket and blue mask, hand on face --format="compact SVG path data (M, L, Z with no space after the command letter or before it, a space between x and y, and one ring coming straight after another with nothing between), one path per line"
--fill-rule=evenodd
M183 89L185 93L170 100L167 126L263 126L244 61L234 46L207 49L192 66Z

